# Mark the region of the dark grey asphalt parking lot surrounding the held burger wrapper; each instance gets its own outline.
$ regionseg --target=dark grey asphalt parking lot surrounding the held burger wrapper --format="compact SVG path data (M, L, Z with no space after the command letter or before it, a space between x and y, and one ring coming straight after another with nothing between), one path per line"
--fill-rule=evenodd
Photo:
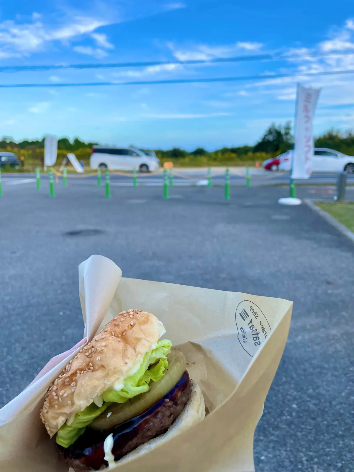
M256 471L352 471L353 244L306 205L278 205L280 186L232 187L230 201L222 187L170 195L116 186L105 199L103 187L57 185L51 199L44 186L3 187L0 406L82 338L77 266L97 253L126 277L293 300L256 430Z

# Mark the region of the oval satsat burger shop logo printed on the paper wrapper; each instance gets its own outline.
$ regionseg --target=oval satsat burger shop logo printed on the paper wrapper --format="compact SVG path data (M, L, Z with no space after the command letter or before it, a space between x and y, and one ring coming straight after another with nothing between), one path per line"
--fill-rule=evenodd
M251 357L270 336L270 326L261 309L250 300L239 303L235 314L238 340Z

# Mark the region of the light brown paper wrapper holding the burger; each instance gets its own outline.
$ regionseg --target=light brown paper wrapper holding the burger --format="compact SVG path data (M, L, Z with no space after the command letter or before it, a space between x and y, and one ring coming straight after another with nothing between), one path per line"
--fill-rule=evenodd
M251 472L253 435L287 341L292 303L277 298L121 278L114 262L91 256L79 266L84 339L53 358L0 410L1 472L67 472L40 419L48 386L122 310L152 312L181 350L202 388L205 419L119 472ZM112 470L112 469L110 469Z

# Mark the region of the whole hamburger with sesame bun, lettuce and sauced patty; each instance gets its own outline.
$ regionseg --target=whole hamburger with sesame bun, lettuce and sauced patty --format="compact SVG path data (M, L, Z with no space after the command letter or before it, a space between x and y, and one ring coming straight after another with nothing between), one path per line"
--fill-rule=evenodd
M75 472L140 455L205 416L200 387L152 313L106 324L48 388L41 418ZM124 459L122 459L124 457Z

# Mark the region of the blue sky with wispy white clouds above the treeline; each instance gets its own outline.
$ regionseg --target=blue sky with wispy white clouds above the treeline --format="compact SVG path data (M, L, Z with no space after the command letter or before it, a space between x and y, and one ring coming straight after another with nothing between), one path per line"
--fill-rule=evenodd
M354 5L249 0L19 0L0 7L0 66L216 59L301 52L301 59L1 73L0 135L47 133L151 148L255 143L292 120L299 78L212 84L56 88L55 84L248 76L354 69ZM315 132L354 127L353 75L300 77L323 87Z

